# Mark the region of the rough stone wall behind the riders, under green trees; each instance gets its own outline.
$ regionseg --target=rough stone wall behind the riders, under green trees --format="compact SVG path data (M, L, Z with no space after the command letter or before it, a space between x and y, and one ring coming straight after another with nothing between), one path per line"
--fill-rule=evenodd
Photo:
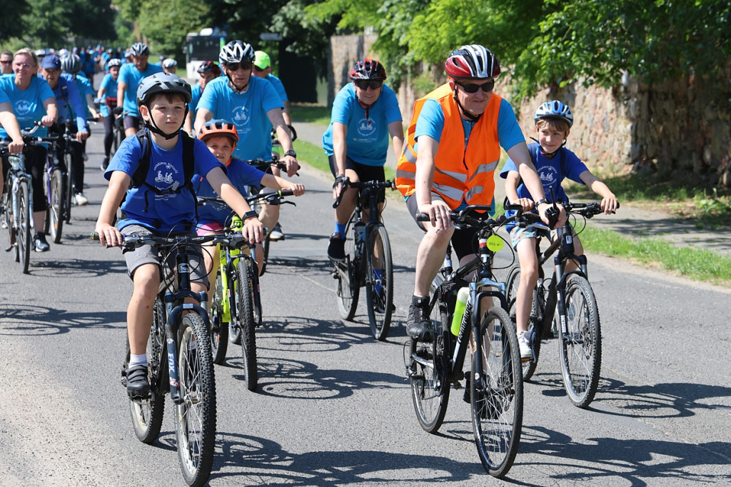
M377 58L369 50L375 40L375 35L330 39L330 103L348 83L355 60ZM444 82L441 68L417 67L417 77L401 83L396 96L404 124L411 119L414 100ZM714 80L689 76L646 86L625 75L613 88L572 83L545 88L523 101L512 97L510 77L504 75L495 91L512 103L526 140L534 134L533 113L542 102L567 103L575 119L567 147L602 174L658 173L731 188L731 66Z

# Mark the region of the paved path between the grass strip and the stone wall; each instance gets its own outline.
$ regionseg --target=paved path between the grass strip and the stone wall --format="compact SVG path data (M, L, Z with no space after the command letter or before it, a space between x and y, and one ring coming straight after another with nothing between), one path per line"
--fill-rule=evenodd
M298 137L317 146L322 146L322 133L327 127L319 124L295 122ZM395 170L396 161L389 149L386 165ZM495 200L505 197L504 186L496 184ZM616 215L599 215L591 220L592 225L603 230L614 230L633 238L662 238L677 246L706 249L731 257L731 230L699 230L692 220L680 219L660 211L648 211L632 205L622 204Z

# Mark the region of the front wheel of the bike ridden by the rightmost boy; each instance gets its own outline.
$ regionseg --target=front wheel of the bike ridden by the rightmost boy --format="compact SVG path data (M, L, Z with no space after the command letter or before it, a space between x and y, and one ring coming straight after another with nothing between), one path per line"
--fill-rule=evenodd
M602 330L594 291L585 278L574 275L568 280L566 310L567 333L558 327L561 376L571 402L586 408L599 386Z

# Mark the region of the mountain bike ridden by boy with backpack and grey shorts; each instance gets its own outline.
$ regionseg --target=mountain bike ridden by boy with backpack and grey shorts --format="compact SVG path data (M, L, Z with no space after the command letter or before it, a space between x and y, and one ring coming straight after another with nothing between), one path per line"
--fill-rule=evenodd
M93 233L91 238L99 237ZM205 311L208 293L190 289L188 249L227 238L233 237L124 235L122 244L123 251L158 246L163 272L147 344L151 394L146 399L129 399L132 426L137 439L151 445L162 427L164 395L170 393L178 460L189 486L202 486L211 473L216 443L216 383ZM200 305L183 303L184 298L193 298ZM125 387L128 363L129 339L122 365L121 382Z

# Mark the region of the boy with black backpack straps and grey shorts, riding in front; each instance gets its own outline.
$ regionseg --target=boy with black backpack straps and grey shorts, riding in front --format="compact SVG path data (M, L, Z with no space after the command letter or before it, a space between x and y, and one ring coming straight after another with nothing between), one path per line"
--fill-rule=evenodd
M183 167L183 140L181 127L190 102L190 85L170 73L159 73L145 78L137 88L137 106L148 133L145 144L151 144L150 164L145 182L130 187L132 175L143 157L141 141L136 135L127 137L114 155L105 173L109 187L102 200L96 233L102 245L120 246L126 234L195 235L194 195L186 186ZM194 170L211 183L213 189L243 219L243 235L250 242L262 239L262 224L251 211L243 196L226 177L223 166L200 140L193 140ZM113 226L117 208L121 204L122 219ZM189 249L191 290L202 292L208 288L205 269L201 265L200 248ZM126 370L127 393L132 399L146 398L150 393L148 382L147 347L152 322L154 298L160 284L160 260L157 249L143 246L124 254L127 271L132 277L134 290L127 307L129 335L129 367Z

